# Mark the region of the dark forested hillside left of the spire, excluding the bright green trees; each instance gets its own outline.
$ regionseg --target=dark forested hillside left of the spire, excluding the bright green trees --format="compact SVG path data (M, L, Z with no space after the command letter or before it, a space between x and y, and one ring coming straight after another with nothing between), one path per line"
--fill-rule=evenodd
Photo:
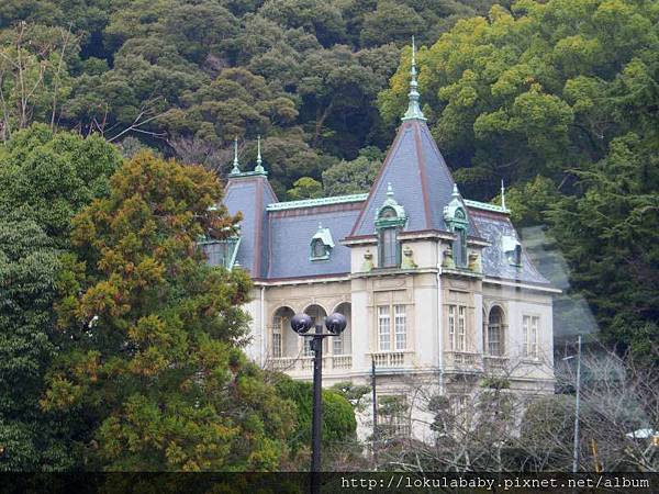
M320 181L360 151L377 161L380 153L369 146L383 149L391 127L382 125L376 100L401 47L412 34L432 44L492 3L3 1L0 135L7 139L32 120L53 121L101 133L126 155L146 145L228 170L234 137L247 161L261 134L266 167L284 199L299 178ZM368 167L365 159L357 166ZM311 182L309 193L322 192Z

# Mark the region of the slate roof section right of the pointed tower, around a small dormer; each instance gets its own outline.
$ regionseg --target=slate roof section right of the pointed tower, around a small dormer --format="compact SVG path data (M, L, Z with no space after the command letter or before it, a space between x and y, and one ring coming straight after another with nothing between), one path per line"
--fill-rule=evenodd
M480 235L491 243L482 251L483 274L526 283L549 284L549 281L533 266L524 248L522 248L522 265L520 267L509 262L503 248L505 237L512 237L518 242L520 238L506 214L482 211L474 207L469 207L469 212Z

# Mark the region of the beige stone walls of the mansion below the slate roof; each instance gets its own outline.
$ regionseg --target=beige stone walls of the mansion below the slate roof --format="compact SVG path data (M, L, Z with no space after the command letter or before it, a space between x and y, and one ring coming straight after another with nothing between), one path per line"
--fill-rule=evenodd
M404 239L402 248L413 250L417 268L412 271L361 272L364 254L370 250L377 266L376 245L351 246L354 274L340 279L282 281L258 285L246 310L253 317L252 345L248 353L264 367L288 372L294 379L311 379L311 357L303 353L304 338L289 327L282 328L284 356L272 357L272 324L278 308L290 307L300 313L319 305L325 313L340 304L350 304L349 355L336 355L332 338L324 346L324 385L350 380L370 383L371 359L378 362L378 393L382 395L418 393L435 388L447 395L468 393L465 383L478 389L479 382L492 375L505 377L511 391L521 394L552 392L551 294L529 287L509 287L483 280L479 273L443 270L438 277L442 250L448 243L439 239ZM470 251L479 251L470 246ZM263 297L263 303L261 303ZM406 348L380 351L378 347L378 306L404 305L406 315ZM448 307L466 307L465 348L450 349ZM499 305L505 315L505 356L488 358L483 347L483 330L492 306ZM439 310L440 308L440 310ZM523 317L538 317L538 357L524 358ZM468 379L466 378L468 377ZM428 388L429 386L429 388ZM370 434L370 407L359 417L360 436ZM412 434L428 438L428 416L424 407L410 411ZM424 426L423 424L426 424Z

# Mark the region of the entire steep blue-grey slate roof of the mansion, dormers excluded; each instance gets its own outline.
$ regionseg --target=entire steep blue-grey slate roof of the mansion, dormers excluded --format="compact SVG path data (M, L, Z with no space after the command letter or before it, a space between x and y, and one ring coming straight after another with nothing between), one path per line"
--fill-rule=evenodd
M224 203L231 214L243 214L237 262L255 279L348 273L350 249L340 240L375 234L376 214L387 199L389 183L393 199L409 216L406 232L448 229L444 207L451 201L454 180L425 121L420 119L400 126L369 194L277 202L265 175L230 177ZM482 256L487 277L549 283L524 249L521 266L510 262L504 244L514 245L518 237L505 210L462 198L459 201L466 206L469 235L491 244ZM319 223L330 229L336 244L326 260L311 260L311 239L319 232Z

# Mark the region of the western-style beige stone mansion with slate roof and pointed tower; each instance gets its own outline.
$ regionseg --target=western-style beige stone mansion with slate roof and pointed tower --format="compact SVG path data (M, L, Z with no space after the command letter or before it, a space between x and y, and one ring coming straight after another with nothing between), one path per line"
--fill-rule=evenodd
M559 291L533 266L504 201L461 197L421 111L414 63L407 112L368 193L280 202L259 147L253 171L236 153L224 203L243 215L239 235L204 249L254 279L247 351L261 366L310 380L309 338L290 318L339 312L348 326L324 340L324 385L369 384L375 367L378 402L405 404L389 423L399 434L432 434L427 412L409 403L421 383L458 412L490 374L505 373L509 392L554 392Z

